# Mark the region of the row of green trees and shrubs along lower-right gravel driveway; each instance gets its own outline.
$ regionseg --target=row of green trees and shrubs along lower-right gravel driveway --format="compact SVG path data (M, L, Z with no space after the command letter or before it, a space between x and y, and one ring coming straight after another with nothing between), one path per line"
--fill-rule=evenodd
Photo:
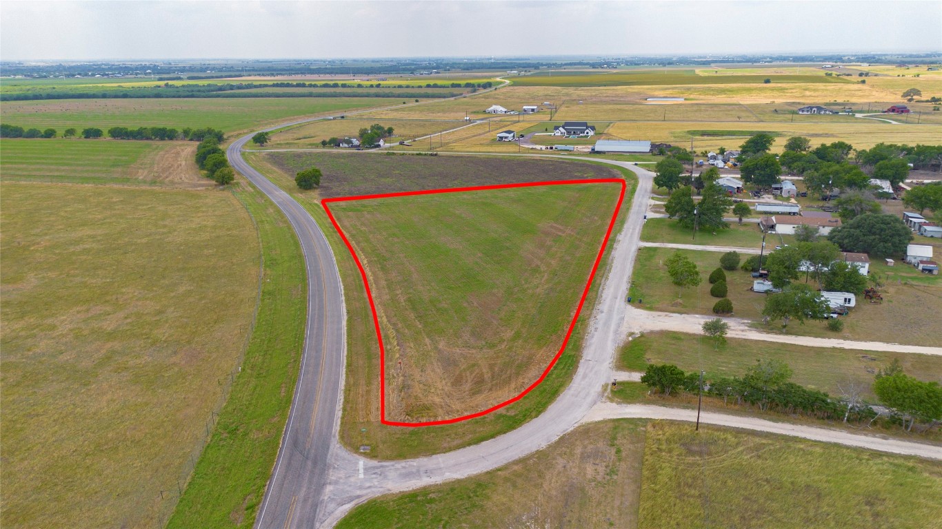
M741 377L710 377L703 382L703 393L730 401L739 406L762 411L800 414L822 420L844 423L868 422L881 414L863 398L864 385L847 381L839 386L841 395L804 388L790 382L791 368L783 361L756 361ZM671 393L697 393L701 390L699 373L685 373L672 364L649 365L642 383L651 392L669 396ZM903 373L899 361L893 361L874 377L873 393L890 411L888 421L912 431L916 423L933 428L942 420L942 387L937 382L923 382Z

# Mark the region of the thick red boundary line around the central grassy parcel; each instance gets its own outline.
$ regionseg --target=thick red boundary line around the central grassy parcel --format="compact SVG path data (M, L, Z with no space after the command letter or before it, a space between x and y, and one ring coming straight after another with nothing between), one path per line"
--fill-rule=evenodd
M621 190L618 195L618 203L615 204L615 211L611 214L611 220L609 220L609 228L605 232L605 237L602 239L602 246L598 249L598 253L595 255L595 262L593 263L592 272L589 274L589 280L586 281L586 286L582 289L582 297L579 298L579 303L576 307L576 313L573 315L573 320L569 323L569 328L566 329L566 336L562 340L562 345L560 345L560 350L556 352L556 355L553 357L553 360L549 362L549 365L546 366L542 375L536 379L535 382L530 384L526 390L517 394L516 396L505 400L504 402L497 404L489 409L484 409L483 411L478 411L476 413L471 413L469 415L463 415L462 417L456 417L454 419L445 419L441 421L428 421L422 423L400 423L396 421L387 421L386 420L386 351L385 346L382 344L382 329L380 329L380 320L376 313L376 305L373 302L373 293L369 289L369 281L366 279L366 271L363 267L363 264L360 263L360 258L357 256L356 251L353 249L353 246L350 244L347 234L340 229L340 224L337 223L337 219L333 217L328 204L331 202L346 202L350 200L371 200L371 199L389 199L395 197L414 197L417 195L437 195L441 193L459 193L462 191L485 191L491 189L509 189L514 187L536 187L541 185L569 185L569 184L620 184ZM533 391L534 388L540 385L544 381L546 376L549 374L549 371L553 369L553 366L556 365L556 362L560 360L562 352L566 349L566 345L569 344L569 338L573 334L573 329L576 327L576 321L579 317L579 313L582 312L582 306L585 304L586 297L589 296L589 289L592 287L592 281L595 278L595 271L598 269L599 263L602 261L602 255L605 253L605 248L609 244L609 236L611 235L611 230L615 226L615 219L618 217L618 212L622 209L622 202L625 200L625 180L619 178L596 178L596 179L586 179L586 180L559 180L553 182L528 182L523 184L496 184L496 185L477 185L473 187L453 187L449 189L428 189L424 191L406 191L401 193L382 193L378 195L360 195L354 197L338 197L334 199L324 199L321 200L321 205L324 207L324 211L327 212L327 216L330 217L331 222L333 223L333 228L336 229L337 233L340 234L340 238L343 239L344 244L347 245L350 255L353 256L353 261L356 263L357 268L360 269L360 276L363 278L363 284L366 290L366 298L369 300L369 310L373 314L373 327L376 329L377 340L380 344L380 422L383 425L391 426L408 426L408 427L417 427L417 426L436 426L436 425L451 425L454 423L459 423L462 421L467 421L468 419L474 419L476 417L481 417L487 415L488 413L495 411L497 409L510 406L514 402L522 399L524 395Z

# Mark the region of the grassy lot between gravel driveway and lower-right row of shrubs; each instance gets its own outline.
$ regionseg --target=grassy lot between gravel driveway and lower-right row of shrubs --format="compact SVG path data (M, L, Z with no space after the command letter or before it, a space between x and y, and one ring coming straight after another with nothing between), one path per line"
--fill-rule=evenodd
M756 360L788 363L796 384L839 395L838 384L854 380L868 388L876 371L894 359L903 370L923 380L942 377L942 358L932 355L853 351L806 347L786 342L729 338L718 348L702 336L681 332L651 332L631 340L619 354L622 369L643 371L649 363L673 363L684 371L707 371L707 377L742 376ZM867 397L875 398L867 391Z

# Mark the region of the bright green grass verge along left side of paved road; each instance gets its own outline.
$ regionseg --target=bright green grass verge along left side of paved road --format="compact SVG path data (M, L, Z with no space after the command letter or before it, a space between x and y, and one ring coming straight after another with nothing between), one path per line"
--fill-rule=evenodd
M252 213L262 241L264 269L255 328L212 439L169 528L252 527L298 379L306 307L300 245L287 219L260 191L243 188L237 196Z

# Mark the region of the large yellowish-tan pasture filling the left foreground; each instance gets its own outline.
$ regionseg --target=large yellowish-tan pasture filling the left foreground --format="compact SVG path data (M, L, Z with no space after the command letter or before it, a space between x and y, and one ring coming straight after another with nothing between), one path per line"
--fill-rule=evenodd
M252 221L225 192L2 197L3 525L160 525L250 331Z

